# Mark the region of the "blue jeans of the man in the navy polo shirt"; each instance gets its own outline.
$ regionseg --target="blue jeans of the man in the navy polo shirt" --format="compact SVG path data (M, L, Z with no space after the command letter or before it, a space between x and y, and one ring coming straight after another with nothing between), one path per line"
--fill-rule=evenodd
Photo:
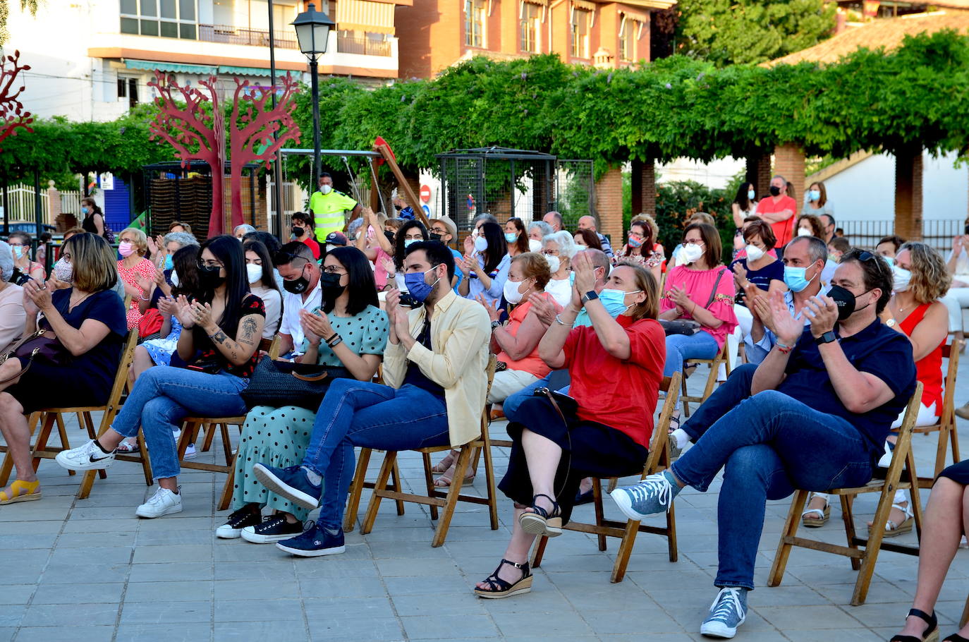
M721 391L741 389L752 370L738 370L741 374L731 376ZM841 417L775 390L751 397L749 384L747 399L735 406L725 406L735 400L730 394L714 400L715 393L707 401L729 408L720 417L708 412L705 421L712 424L702 424L700 413L687 422L700 438L672 465L672 473L705 491L724 468L717 508L720 568L714 585L753 589L766 500L786 498L795 489L861 486L871 479L873 463L865 438Z

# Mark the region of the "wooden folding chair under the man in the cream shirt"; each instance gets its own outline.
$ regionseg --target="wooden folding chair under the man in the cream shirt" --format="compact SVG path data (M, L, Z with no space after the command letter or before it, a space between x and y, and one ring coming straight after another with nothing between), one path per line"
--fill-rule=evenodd
M491 381L494 379L494 371L496 366L497 361L494 355L491 355L487 366L487 391L490 391L491 389ZM381 465L380 473L378 474L377 481L374 484L373 494L370 496L370 503L367 506L366 515L363 518L363 524L360 527L360 532L362 534L366 534L370 532L370 530L373 530L373 523L377 519L377 511L380 509L380 501L383 498L411 501L430 506L431 519L438 520L437 529L434 530L434 538L431 540L431 546L434 547L444 544L445 539L448 537L448 529L451 527L451 519L454 514L454 508L458 501L467 501L470 503L487 505L489 516L491 518L491 530L498 530L498 492L495 488L494 482L494 465L491 460L491 439L488 436L487 430L488 421L489 417L487 410L485 407L482 407L480 427L481 434L468 443L458 447L459 454L457 456L457 461L454 463L454 476L451 480L451 486L448 488L447 493L444 493L434 487L430 455L432 453L440 453L451 450L452 446L433 446L429 448L415 449L417 452L422 454L424 465L424 482L427 486L426 495L413 495L410 493L401 493L399 491L388 489L387 482L391 476L391 470L396 463L397 453L396 451L392 450L387 451L387 454L384 456L384 464ZM485 498L471 495L461 495L461 486L464 483L464 475L467 472L468 466L471 464L471 460L474 457L474 450L476 448L482 449L485 455L485 481L487 483L487 497ZM440 519L438 519L438 508L444 509L440 515Z

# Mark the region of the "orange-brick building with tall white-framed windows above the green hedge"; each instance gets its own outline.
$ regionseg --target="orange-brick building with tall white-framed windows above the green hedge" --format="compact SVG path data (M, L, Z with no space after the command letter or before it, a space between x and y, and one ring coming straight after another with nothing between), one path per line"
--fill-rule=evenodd
M649 60L650 14L675 0L414 0L395 9L401 78L429 78L474 55L557 53L619 68Z

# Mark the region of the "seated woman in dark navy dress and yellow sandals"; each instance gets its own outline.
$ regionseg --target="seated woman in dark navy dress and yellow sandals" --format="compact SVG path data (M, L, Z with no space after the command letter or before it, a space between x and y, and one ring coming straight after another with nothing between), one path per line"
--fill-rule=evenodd
M124 305L111 290L117 272L108 241L78 234L64 243L62 256L74 268L73 287L55 290L52 284L28 281L23 286L26 315L21 330L25 336L38 329L53 332L71 356L70 363L11 357L0 365L0 433L16 467L16 480L0 491L2 504L41 498L27 416L51 404L106 403L128 333ZM28 363L30 368L24 371Z

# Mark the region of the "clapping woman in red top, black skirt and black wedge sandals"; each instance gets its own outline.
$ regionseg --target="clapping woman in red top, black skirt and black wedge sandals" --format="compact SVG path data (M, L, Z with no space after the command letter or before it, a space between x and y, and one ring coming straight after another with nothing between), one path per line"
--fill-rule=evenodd
M582 477L631 475L646 460L666 360L656 279L640 266L619 265L596 296L587 253L576 255L573 269L572 301L542 337L539 355L550 368L569 369L578 411L560 403L563 422L537 396L522 402L519 421L509 425L514 442L498 488L515 501L515 527L498 568L475 589L481 597L531 591L532 541L562 533ZM592 326L573 329L582 306Z

